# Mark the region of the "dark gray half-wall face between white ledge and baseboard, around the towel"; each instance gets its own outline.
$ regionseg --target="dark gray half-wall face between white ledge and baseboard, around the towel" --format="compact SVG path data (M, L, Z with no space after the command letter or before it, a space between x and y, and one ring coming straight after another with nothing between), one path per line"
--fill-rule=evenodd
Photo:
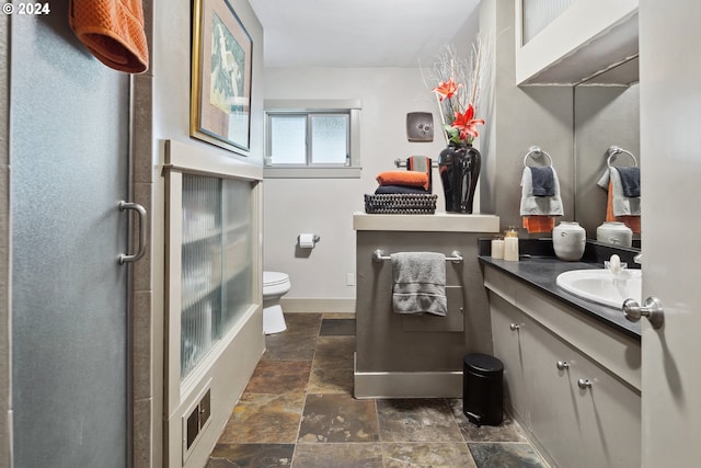
M460 370L466 353L492 352L492 328L478 263L479 232L358 231L356 303L357 368L360 372ZM438 246L438 247L437 247ZM372 261L372 251L458 250L463 263L446 262L449 316L463 307L463 323L443 317L405 317L392 311L392 264ZM458 303L458 304L456 304ZM449 331L451 330L451 331Z

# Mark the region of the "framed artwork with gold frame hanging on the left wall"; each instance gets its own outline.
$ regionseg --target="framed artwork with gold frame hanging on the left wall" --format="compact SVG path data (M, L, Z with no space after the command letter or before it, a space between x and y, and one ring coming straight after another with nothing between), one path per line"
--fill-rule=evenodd
M251 36L227 0L194 0L189 134L231 151L251 147Z

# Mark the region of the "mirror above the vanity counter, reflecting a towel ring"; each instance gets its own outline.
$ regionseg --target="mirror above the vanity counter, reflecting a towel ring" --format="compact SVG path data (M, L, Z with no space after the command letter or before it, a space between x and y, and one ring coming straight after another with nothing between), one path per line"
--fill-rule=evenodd
M596 239L596 228L606 219L607 191L597 182L607 170L609 147L618 146L640 160L640 90L637 57L574 88L574 217ZM632 165L619 153L612 165ZM633 235L640 246L640 235Z

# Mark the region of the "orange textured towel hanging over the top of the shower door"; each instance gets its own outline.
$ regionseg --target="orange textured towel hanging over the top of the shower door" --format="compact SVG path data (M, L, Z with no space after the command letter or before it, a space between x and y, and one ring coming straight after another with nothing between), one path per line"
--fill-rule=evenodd
M70 0L68 22L80 42L107 67L127 73L148 70L141 0Z

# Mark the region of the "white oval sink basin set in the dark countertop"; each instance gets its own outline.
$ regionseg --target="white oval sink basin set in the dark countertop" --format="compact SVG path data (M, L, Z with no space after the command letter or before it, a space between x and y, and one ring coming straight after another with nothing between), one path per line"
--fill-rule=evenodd
M616 309L628 298L639 304L642 299L640 270L623 270L618 279L608 270L574 270L558 275L555 283L570 294Z

